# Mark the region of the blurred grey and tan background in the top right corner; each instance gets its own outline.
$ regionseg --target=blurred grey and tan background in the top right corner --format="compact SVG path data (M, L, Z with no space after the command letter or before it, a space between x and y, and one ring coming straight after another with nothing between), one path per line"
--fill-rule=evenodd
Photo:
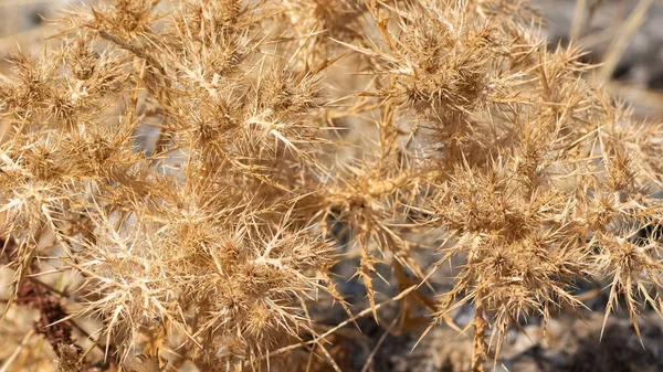
M587 62L603 63L606 88L640 117L663 118L663 1L533 0L551 45L578 40Z

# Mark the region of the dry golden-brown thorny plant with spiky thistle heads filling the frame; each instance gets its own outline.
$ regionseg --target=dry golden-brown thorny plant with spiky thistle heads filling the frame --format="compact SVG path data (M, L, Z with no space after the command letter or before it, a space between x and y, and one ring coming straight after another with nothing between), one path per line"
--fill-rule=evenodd
M636 330L662 310L662 127L611 105L582 51L548 50L525 2L116 0L59 22L0 79L0 227L7 309L60 325L35 327L62 371L94 348L144 352L136 371L166 368L157 348L171 368L318 365L288 359L302 346L339 370L308 307L378 320L385 264L435 320L473 305L473 371L525 317L582 306L578 280L608 280L606 317L623 304ZM438 298L412 255L431 231L433 269L464 263ZM345 243L366 310L335 287ZM74 291L40 281L62 272Z

